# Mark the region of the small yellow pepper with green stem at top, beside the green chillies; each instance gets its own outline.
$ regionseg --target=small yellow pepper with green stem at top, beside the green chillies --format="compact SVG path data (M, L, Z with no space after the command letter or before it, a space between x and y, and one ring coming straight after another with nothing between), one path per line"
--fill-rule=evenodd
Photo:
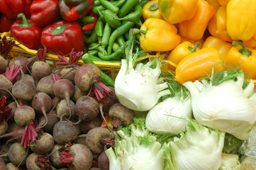
M159 11L158 8L158 0L152 0L148 1L144 6L143 6L143 19L146 20L148 18L162 18L162 15Z

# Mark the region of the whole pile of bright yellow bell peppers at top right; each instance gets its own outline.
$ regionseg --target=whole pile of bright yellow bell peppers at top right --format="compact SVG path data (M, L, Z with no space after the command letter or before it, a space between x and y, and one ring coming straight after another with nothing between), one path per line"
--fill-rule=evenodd
M255 0L152 0L143 18L140 46L165 52L179 83L205 77L212 67L239 67L255 79Z

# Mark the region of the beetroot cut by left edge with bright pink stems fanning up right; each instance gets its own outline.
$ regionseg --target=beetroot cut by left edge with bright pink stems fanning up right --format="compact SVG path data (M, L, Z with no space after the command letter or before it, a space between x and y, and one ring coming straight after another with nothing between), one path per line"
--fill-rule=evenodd
M21 67L16 67L16 65L12 65L11 68L6 67L6 72L4 74L0 74L0 87L1 89L6 89L8 91L11 91L13 88L13 83L16 82L16 78L18 77L18 73L22 69ZM0 97L6 96L6 98L10 98L11 95L4 90L0 89Z

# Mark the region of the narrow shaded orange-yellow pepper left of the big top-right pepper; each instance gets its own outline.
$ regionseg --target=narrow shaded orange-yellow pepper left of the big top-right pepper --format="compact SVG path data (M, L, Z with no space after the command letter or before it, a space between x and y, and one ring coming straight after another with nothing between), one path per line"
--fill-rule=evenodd
M215 15L208 23L208 31L214 37L221 38L222 40L232 42L232 39L228 35L226 27L226 7L221 6L217 9Z

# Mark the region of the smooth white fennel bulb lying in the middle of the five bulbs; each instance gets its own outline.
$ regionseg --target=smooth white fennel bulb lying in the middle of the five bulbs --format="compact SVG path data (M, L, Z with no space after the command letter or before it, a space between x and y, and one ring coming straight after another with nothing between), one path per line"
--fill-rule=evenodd
M184 132L187 119L191 118L191 98L166 98L151 108L146 116L146 127L157 134L177 135Z

